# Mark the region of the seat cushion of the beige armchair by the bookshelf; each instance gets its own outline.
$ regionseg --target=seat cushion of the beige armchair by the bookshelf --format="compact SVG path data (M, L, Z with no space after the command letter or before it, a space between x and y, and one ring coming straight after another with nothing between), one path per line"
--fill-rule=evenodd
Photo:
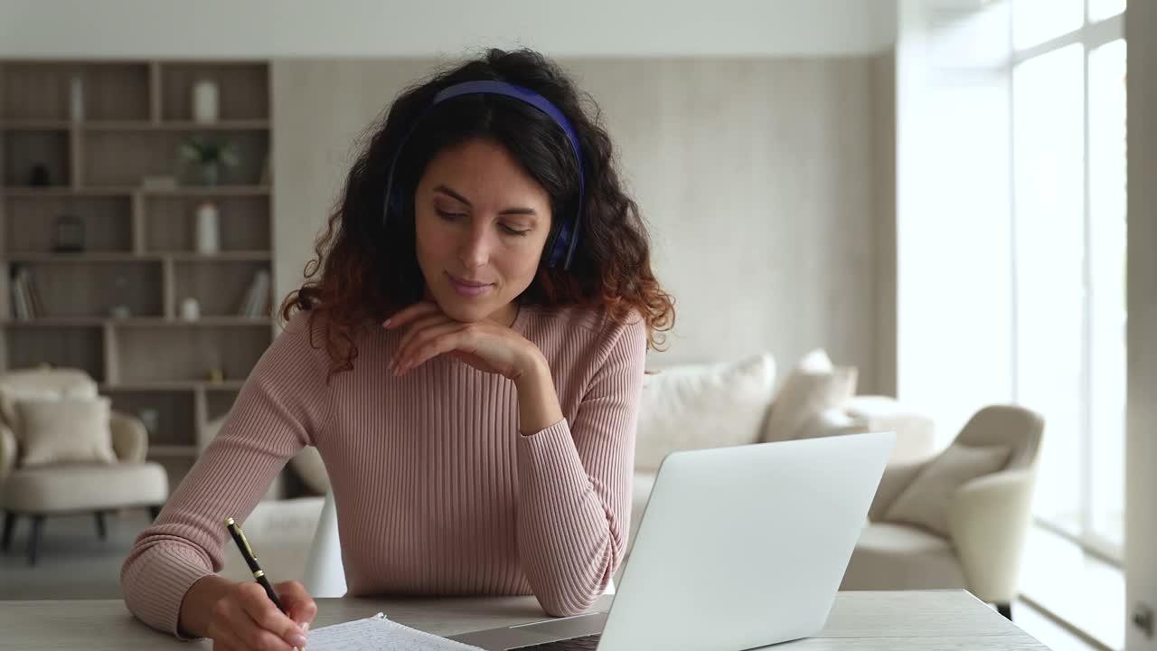
M45 514L160 505L168 497L169 476L155 462L20 468L0 493L9 511Z

